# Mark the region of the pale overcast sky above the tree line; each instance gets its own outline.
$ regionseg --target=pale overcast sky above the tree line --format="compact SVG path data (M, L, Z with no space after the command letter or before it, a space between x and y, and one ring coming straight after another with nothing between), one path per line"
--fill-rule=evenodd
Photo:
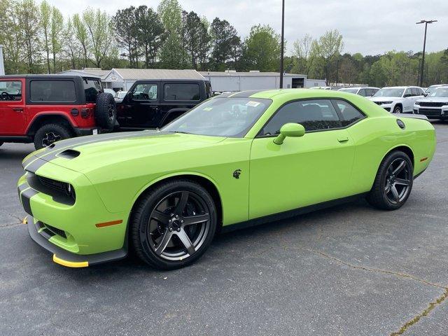
M157 9L159 0L48 0L64 15L79 13L88 6L113 15L127 6ZM194 10L209 21L228 20L244 38L251 26L267 24L281 31L281 0L179 0L185 10ZM318 38L338 29L344 38L343 52L363 55L388 50L421 51L424 25L420 20L438 20L428 25L426 51L448 48L448 0L285 0L285 39L288 53L293 41L311 34Z

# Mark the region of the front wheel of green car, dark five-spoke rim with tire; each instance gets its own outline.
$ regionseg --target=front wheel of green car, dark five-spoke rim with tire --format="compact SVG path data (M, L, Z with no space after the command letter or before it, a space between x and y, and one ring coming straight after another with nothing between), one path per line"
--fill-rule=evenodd
M168 181L144 195L134 207L130 243L148 265L177 269L204 254L216 226L216 206L207 190L186 179Z

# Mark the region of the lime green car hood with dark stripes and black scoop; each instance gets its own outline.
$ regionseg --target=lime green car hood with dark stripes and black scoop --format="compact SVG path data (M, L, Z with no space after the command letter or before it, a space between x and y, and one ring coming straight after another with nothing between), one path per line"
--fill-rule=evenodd
M51 148L37 151L34 155L75 172L86 173L95 169L106 170L117 162L205 148L224 139L149 130L121 132L58 141Z

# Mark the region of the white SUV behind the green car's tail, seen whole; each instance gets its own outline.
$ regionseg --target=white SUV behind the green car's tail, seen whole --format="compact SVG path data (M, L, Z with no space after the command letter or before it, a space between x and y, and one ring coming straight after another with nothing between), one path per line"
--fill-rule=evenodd
M425 92L418 86L383 87L369 98L386 111L392 113L413 113L414 103L425 97Z

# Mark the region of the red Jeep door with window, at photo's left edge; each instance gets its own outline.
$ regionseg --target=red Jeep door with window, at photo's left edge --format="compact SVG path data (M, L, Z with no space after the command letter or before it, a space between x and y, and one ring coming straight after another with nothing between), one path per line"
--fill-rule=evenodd
M0 80L0 135L25 134L27 120L24 87L24 79Z

